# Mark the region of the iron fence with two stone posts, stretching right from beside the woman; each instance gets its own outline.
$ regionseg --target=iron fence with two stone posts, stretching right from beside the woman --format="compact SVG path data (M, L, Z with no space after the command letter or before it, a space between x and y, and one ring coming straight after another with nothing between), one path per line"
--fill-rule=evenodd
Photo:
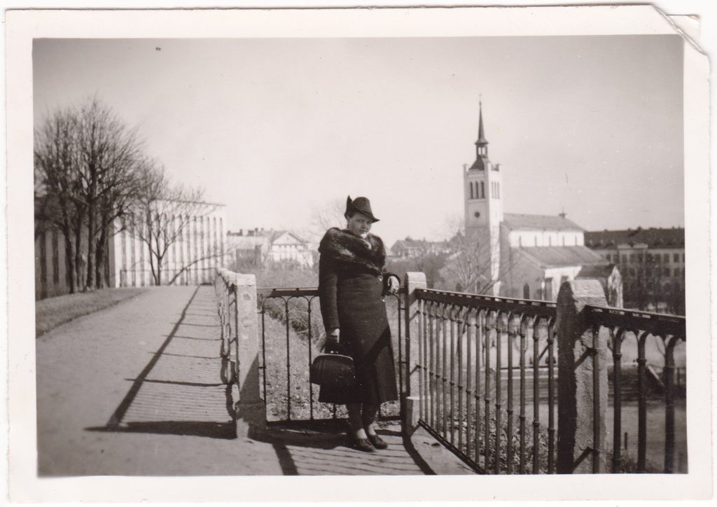
M595 280L564 283L558 302L548 303L428 290L420 275L409 273L407 281L407 427L424 427L480 473L675 471L675 398L684 376L674 358L685 343L684 317L607 308ZM620 448L627 336L637 339L635 470ZM652 350L652 366L650 336L664 344L663 356ZM655 356L664 358L661 372ZM650 379L658 384L652 391ZM647 434L660 409L647 410L655 392L663 435L659 427ZM612 452L605 452L609 417ZM679 436L686 440L684 432ZM648 470L647 447L662 438L664 467Z

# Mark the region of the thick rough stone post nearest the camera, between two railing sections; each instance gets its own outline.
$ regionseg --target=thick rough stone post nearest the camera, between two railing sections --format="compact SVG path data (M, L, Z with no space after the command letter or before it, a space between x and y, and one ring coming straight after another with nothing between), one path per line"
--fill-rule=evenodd
M557 308L558 473L605 471L607 329L594 328L583 311L585 305L607 305L597 280L561 285Z

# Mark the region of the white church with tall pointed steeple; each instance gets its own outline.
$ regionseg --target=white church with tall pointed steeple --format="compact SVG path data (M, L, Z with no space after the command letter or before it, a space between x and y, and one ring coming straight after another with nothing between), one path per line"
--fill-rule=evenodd
M483 266L483 292L509 298L551 300L566 280L594 278L608 303L622 306L619 270L585 246L584 229L559 215L503 212L503 168L488 158L483 130L483 104L478 118L475 161L463 166L465 240ZM471 287L462 288L473 292Z

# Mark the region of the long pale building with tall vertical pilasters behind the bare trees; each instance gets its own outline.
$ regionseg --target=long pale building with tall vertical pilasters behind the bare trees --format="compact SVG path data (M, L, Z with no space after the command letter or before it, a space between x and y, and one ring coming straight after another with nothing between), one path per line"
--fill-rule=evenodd
M211 283L224 255L224 205L160 203L163 213L153 225L125 217L117 219L107 240L102 272L105 286L142 287L160 283ZM172 212L181 209L183 212ZM35 224L35 298L70 293L66 238L56 227ZM152 232L152 234L149 234ZM152 237L152 252L149 238ZM160 238L159 247L157 237ZM75 239L72 238L73 243ZM77 290L84 287L87 230L81 234ZM161 270L158 270L161 255Z

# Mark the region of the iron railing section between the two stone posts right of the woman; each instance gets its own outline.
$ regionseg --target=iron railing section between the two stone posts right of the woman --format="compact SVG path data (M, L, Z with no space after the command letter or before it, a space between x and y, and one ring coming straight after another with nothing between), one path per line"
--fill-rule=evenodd
M556 304L427 289L417 299L419 424L479 472L554 473Z

